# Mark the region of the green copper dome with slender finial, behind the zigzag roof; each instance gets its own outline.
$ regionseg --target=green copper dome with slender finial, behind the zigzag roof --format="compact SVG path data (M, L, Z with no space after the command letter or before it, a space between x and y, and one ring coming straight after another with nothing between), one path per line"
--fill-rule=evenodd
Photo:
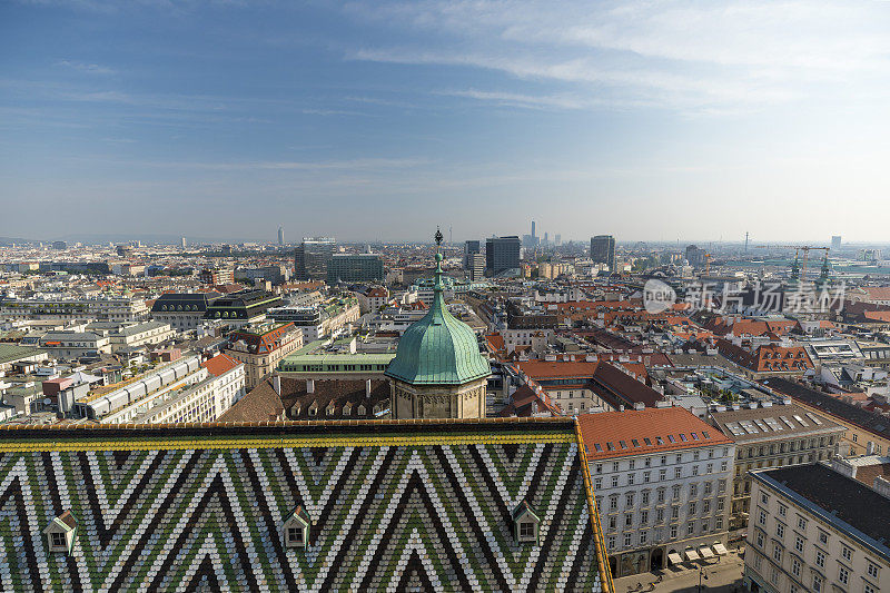
M438 238L438 237L437 237ZM442 254L436 254L433 306L398 340L386 375L413 385L463 385L492 374L476 334L448 313L442 296Z

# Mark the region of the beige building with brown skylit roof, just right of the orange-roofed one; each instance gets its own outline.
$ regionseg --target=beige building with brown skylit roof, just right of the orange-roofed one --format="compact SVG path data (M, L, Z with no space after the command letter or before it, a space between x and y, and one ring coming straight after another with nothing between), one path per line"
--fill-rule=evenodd
M751 404L758 406L756 403ZM843 426L794 404L728 409L711 414L711 423L735 442L730 530L748 526L751 507L749 471L830 459Z

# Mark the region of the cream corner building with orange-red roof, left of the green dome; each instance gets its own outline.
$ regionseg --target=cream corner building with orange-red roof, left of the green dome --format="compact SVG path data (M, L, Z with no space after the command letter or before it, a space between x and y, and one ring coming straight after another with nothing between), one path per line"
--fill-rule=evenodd
M303 346L303 334L293 323L264 323L233 332L225 353L245 365L250 391L278 366L278 362Z

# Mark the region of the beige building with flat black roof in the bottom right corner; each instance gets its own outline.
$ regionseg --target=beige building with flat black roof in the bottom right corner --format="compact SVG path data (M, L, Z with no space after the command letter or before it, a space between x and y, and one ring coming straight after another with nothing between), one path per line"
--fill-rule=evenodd
M890 473L890 464L883 470ZM754 470L751 476L749 591L890 591L888 491L881 494L827 463Z

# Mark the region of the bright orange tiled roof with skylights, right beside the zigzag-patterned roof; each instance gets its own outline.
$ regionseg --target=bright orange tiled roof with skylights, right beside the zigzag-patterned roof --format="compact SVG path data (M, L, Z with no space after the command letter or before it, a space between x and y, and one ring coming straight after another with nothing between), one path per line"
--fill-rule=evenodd
M587 459L732 444L719 429L682 407L581 414L577 422Z

